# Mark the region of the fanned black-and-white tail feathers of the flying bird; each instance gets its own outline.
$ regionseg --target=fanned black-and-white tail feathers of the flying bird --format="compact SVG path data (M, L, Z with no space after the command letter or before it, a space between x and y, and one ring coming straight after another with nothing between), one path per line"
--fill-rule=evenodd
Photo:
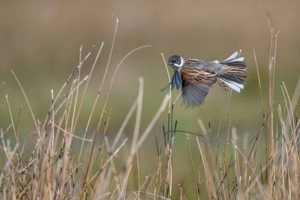
M235 58L238 52L235 51L229 58L220 62L220 64L226 64L231 67L231 70L227 73L219 75L219 79L226 83L230 88L237 91L238 93L244 88L246 82L244 79L248 78L246 71L246 63L244 57Z

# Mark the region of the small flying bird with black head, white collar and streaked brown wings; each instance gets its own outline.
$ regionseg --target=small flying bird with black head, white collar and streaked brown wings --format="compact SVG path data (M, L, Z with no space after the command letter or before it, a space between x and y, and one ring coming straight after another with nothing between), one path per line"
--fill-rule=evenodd
M238 57L238 52L235 51L226 60L202 61L195 58L182 58L179 55L173 55L169 58L169 63L174 69L173 77L170 83L162 89L166 90L171 86L173 89L176 86L178 90L182 86L181 105L186 107L200 106L211 86L217 81L219 85L225 88L228 85L233 90L240 93L248 78L246 71L246 63L244 57ZM220 79L222 82L219 82Z

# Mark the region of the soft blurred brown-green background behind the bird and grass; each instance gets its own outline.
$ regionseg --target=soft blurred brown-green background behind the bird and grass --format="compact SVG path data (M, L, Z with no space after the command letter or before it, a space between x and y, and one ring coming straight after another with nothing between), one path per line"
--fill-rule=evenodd
M81 77L84 77L89 73L98 49L104 42L79 118L78 127L84 130L102 82L113 40L116 18L111 13L118 17L119 25L106 84L91 126L96 127L98 124L106 91L117 64L136 47L148 44L152 47L130 55L116 75L107 104L107 110L112 106L107 133L110 136L114 136L119 130L136 99L140 76L144 78L141 132L155 115L167 93L160 90L168 84L161 53L166 60L172 55L181 55L207 61L221 61L240 49L247 62L249 79L240 94L232 92L229 115L232 117L232 126L237 123L240 138L246 132L250 133L250 138L258 133L263 123L263 113L252 43L256 52L266 110L271 37L263 6L272 7L274 31L281 29L278 34L275 71L276 119L278 104L284 105L280 85L285 82L292 96L299 77L300 1L275 0L272 4L259 0L1 1L0 5L0 81L5 81L0 91L0 127L6 129L11 123L5 99L5 95L8 94L15 123L19 106L23 106L21 137L32 134L35 128L25 98L10 69L19 78L36 119L44 122L51 106L51 89L56 95L69 76L72 60L73 68L78 65L80 45L83 44L83 55L95 45L92 55L82 67ZM173 73L170 66L169 72ZM174 90L172 102L178 94L179 91ZM199 108L185 109L184 106L180 107L178 101L173 113L173 118L178 120L177 130L202 134L197 122L197 119L201 118L207 129L210 122L214 138L226 96L227 91L216 84ZM295 103L295 106L298 103ZM167 117L166 109L144 147L152 148L154 156L154 134L159 139L163 138L162 125L167 124ZM126 137L133 133L134 119L133 117L125 129ZM78 135L81 134L79 131ZM195 139L195 136L192 137ZM184 134L178 134L174 145L180 146L181 141L186 144L184 138ZM99 138L99 141L101 140ZM160 142L159 145L162 145L163 141ZM182 170L184 175L186 168L183 167Z

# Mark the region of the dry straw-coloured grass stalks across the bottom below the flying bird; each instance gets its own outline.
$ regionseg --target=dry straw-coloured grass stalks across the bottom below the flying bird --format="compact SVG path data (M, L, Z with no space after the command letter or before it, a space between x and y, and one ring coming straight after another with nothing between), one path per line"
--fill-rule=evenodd
M274 29L271 25L271 15L268 8L265 10L271 34L271 47L268 66L269 91L268 94L261 92L262 99L264 95L268 96L267 109L263 107L264 104L262 102L264 121L261 129L253 139L249 140L247 135L244 135L243 144L238 145L238 128L235 125L235 128L231 129L232 124L229 117L229 100L231 95L231 90L229 90L217 137L212 139L211 131L207 133L207 128L199 119L198 122L205 137L205 143L199 142L198 138L196 138L199 152L193 152L190 148L190 133L186 133L186 151L189 152L192 166L193 187L190 187L188 190L183 189L187 173L181 184L175 185L173 181L174 177L178 176L178 173L173 171L173 143L176 139L175 134L178 134L179 131L176 130L177 121L173 120L173 106L171 106L170 100L171 91L170 94L165 96L161 107L158 108L146 130L140 134L143 103L143 79L140 78L137 99L119 128L119 132L112 141L106 136L109 130L111 112L111 108L109 112L106 111L106 104L117 70L128 56L139 49L149 46L142 46L132 50L120 61L111 81L108 81L110 87L106 94L98 126L95 130L90 130L89 122L92 117L96 117L94 116L94 109L100 94L102 95L102 86L107 82L106 72L110 66L109 57L107 69L98 95L95 98L93 109L88 117L86 128L81 136L75 135L75 133L80 133L76 124L81 113L85 91L102 49L101 46L94 65L91 67L90 74L84 78L81 77L80 70L91 53L88 52L82 59L80 50L79 66L70 75L55 98L52 91L52 106L43 124L40 121L36 121L26 94L12 71L27 101L31 116L35 122L35 131L38 134L38 139L35 146L26 147L26 151L32 151L32 154L29 160L25 160L23 158L23 141L19 140L20 122L18 120L16 123L14 120L15 116L10 112L11 125L4 128L4 130L1 127L2 144L0 148L2 162L4 163L0 172L1 199L184 199L187 197L193 199L299 199L298 126L300 121L296 115L298 106L295 107L292 102L295 102L295 98L298 99L297 94L300 91L300 87L298 84L295 96L291 100L283 83L282 93L285 102L283 107L280 104L278 106L280 121L274 122L273 91L278 33L274 34ZM111 53L113 46L114 40ZM257 73L259 77L258 67ZM72 79L73 76L76 77ZM84 84L83 95L80 98L79 90ZM68 92L64 97L61 97L64 89L67 89ZM10 111L9 98L6 97L6 99ZM139 163L139 149L145 143L146 137L151 132L158 117L165 110L168 101L170 109L168 124L167 127L164 127L164 148L160 148L158 142L156 147L158 168L153 173L155 178L148 177L142 181L140 169L144 166L142 163ZM122 139L124 137L122 136L124 128L135 109L137 114L133 137L131 139ZM60 115L61 113L62 115ZM276 128L274 128L274 124L276 124ZM208 130L210 130L210 127ZM91 131L92 135L88 134ZM16 141L14 146L6 139L7 134L12 132ZM231 141L229 141L230 133L232 133L233 138ZM99 134L102 134L101 137L103 138L101 144L96 142ZM78 144L75 141L79 141ZM221 141L225 141L224 149L220 148L222 145ZM265 152L259 152L258 147L262 141L265 141ZM228 153L229 145L234 147L232 154ZM89 150L85 151L87 146L89 146ZM239 146L242 146L242 148L239 148ZM125 147L128 153L125 155L126 159L120 164L116 156ZM154 154L155 151L151 153ZM194 159L193 155L195 154L199 157L199 160ZM258 160L258 155L260 158L262 154L265 155L265 160ZM137 161L137 164L134 161ZM132 166L136 166L137 172L132 172ZM135 181L134 179L137 179L136 189L131 190L128 182L129 180Z

